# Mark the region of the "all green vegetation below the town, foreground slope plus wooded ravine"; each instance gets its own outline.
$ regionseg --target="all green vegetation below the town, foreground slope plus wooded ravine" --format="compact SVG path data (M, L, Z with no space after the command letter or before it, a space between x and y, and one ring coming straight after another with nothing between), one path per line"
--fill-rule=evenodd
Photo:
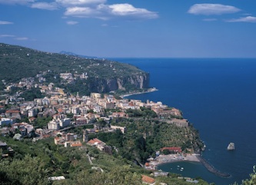
M198 132L193 127L176 127L173 124L156 121L155 114L147 108L128 111L134 115L130 118L117 118L111 124L125 126L126 133L121 130L90 134L89 139L97 137L113 148L113 155L105 154L95 147L83 144L81 148L55 145L52 137L38 141L26 138L13 140L0 137L15 151L12 157L0 160L0 184L142 184L141 175L150 175L144 170L148 157L155 157L155 151L161 147L177 147L195 150L201 143ZM48 118L47 118L48 119ZM47 121L39 118L35 126L42 126ZM98 127L108 127L108 123L99 120ZM70 132L81 138L86 127L73 127ZM188 142L190 140L191 142ZM5 154L4 150L0 150ZM91 162L88 160L91 158ZM64 176L65 180L49 181L48 177ZM168 177L154 177L156 184L188 185L170 174ZM244 180L242 185L255 184L255 173L251 179ZM198 185L206 185L198 179ZM211 183L213 184L213 183ZM238 185L238 183L234 183Z

